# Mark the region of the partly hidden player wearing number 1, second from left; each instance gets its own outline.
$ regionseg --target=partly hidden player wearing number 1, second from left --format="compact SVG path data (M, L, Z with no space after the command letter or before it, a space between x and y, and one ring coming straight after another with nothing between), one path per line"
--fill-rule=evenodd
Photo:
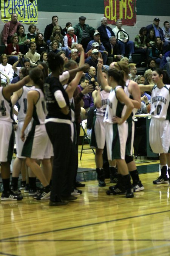
M22 72L25 76L28 74L28 69L23 68ZM20 90L16 91L11 97L12 105L14 106L16 104L16 102L18 102L18 107L19 107L18 108L19 113L17 116L18 127L17 127L17 131L15 133L17 157L15 158L14 163L13 163L12 182L11 182L11 189L15 193L17 193L17 192L20 193L20 191L18 190L18 178L19 178L21 168L23 168L22 166L25 166L25 157L22 157L22 155L21 155L24 143L20 138L20 133L21 133L21 129L23 127L24 119L25 119L26 112L27 112L27 94L28 94L28 91L33 88L35 88L35 86L32 86L32 82L29 81ZM30 125L31 125L31 123L30 123ZM26 133L28 133L29 128L30 128L30 126L28 126ZM23 162L23 160L24 160L24 162ZM22 171L22 176L24 176L24 177L26 176L24 171ZM26 184L26 181L25 181L25 184Z

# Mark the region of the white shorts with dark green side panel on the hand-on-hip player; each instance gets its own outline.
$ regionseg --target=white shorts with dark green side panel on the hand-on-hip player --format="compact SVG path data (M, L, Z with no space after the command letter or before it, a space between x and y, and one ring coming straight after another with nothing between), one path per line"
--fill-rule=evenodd
M106 146L108 160L125 159L128 123L106 123Z

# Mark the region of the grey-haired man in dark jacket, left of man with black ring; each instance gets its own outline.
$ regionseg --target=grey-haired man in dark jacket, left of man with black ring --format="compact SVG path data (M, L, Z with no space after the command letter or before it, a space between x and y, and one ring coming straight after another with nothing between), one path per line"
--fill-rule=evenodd
M105 45L111 36L115 36L112 29L107 26L107 18L101 18L101 26L97 28L100 33L100 40Z

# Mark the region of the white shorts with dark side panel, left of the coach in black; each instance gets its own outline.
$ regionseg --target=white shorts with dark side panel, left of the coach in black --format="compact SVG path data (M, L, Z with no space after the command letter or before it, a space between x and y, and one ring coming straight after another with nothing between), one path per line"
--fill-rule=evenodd
M49 159L53 147L45 129L45 124L32 127L23 145L22 156L33 159Z

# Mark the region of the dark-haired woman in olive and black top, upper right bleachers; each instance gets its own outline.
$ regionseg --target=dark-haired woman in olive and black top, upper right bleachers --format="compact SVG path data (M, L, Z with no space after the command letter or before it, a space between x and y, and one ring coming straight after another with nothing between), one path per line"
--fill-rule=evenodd
M142 27L139 30L139 34L136 35L134 38L134 52L142 54L144 57L144 60L146 58L146 53L147 53L146 36L145 36L146 33L147 33L147 29L145 27Z

